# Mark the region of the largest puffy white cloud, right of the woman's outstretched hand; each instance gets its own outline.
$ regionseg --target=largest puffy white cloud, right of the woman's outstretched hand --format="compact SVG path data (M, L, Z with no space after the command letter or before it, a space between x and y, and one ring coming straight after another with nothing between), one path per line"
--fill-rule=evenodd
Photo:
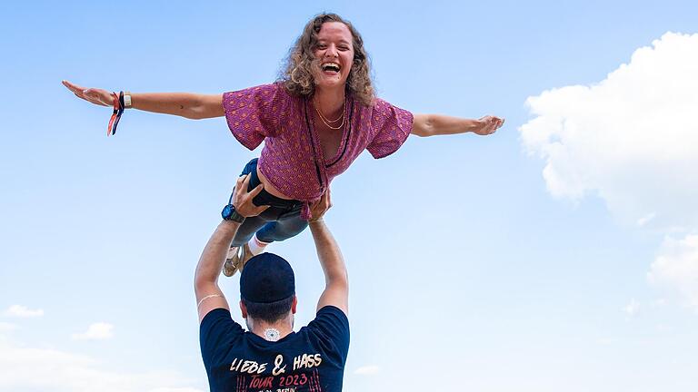
M664 34L600 83L527 100L524 148L556 197L603 198L621 220L698 227L698 34Z

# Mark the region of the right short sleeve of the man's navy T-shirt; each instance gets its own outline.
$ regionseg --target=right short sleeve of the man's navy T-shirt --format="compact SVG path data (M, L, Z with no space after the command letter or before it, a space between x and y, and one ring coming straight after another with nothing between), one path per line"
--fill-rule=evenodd
M308 328L324 344L324 352L334 354L344 365L349 353L349 319L344 312L332 305L324 306Z

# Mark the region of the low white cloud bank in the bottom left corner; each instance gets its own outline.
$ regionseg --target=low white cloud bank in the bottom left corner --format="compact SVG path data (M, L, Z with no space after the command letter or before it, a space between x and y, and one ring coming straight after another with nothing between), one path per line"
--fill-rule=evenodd
M0 330L2 391L203 392L187 387L191 384L192 380L171 372L116 372L85 355L27 347L7 338Z

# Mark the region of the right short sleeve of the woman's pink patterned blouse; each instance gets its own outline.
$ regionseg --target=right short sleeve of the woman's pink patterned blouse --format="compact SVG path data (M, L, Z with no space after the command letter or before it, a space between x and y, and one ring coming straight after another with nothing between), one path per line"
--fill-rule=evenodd
M412 132L413 120L412 113L376 98L371 114L374 139L366 150L371 152L375 159L396 152Z

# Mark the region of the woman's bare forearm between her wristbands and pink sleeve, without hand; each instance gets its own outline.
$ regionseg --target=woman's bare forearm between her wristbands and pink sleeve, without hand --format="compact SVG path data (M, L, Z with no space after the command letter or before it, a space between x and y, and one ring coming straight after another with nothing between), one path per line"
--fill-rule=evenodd
M194 120L220 117L224 114L221 94L131 93L131 107L146 112L174 114Z

